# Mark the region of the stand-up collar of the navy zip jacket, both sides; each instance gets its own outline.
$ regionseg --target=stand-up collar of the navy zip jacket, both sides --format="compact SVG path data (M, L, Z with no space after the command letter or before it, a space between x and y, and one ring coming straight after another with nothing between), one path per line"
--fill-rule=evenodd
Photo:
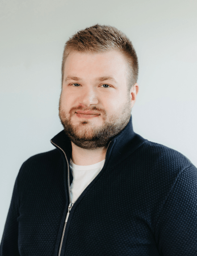
M146 139L142 138L133 131L131 115L129 122L124 129L111 139L111 142L108 145L106 164L108 163L111 167L113 167L115 164L121 162L123 158L125 159L128 155L132 154L132 152L145 141ZM61 148L61 150L65 152L68 160L70 160L70 157L72 156L72 144L64 130L53 137L51 142L57 148Z

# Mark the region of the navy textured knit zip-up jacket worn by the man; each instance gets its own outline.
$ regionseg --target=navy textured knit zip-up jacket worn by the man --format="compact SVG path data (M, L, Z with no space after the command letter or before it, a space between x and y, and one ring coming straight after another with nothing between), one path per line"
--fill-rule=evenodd
M1 256L58 255L68 212L71 143L32 156L16 178ZM66 155L66 158L65 158ZM70 183L72 174L70 172ZM70 210L66 256L197 255L197 170L181 153L133 132L112 138L106 162Z

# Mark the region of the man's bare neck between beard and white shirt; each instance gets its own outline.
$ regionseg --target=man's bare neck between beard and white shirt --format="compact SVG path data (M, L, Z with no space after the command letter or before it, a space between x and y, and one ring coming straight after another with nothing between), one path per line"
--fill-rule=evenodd
M99 147L91 150L81 148L72 143L72 161L78 166L89 166L99 163L106 158L107 147Z

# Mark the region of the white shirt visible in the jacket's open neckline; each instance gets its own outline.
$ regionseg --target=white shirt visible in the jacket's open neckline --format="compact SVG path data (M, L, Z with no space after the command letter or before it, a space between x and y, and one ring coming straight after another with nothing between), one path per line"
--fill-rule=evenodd
M71 201L74 203L83 190L94 180L104 166L104 160L90 166L78 166L70 158L70 170L73 175L73 182L70 185Z

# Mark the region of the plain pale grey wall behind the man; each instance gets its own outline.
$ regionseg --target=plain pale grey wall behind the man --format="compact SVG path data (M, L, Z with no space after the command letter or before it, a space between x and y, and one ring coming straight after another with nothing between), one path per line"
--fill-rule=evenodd
M125 32L139 57L136 133L197 166L197 1L1 0L0 239L22 163L53 148L61 57L69 36L93 24Z

